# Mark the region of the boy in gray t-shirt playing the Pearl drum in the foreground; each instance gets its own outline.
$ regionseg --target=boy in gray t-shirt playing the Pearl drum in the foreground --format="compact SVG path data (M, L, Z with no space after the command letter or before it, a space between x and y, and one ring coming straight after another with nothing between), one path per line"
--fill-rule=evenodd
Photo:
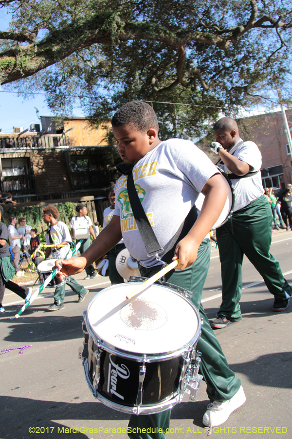
M227 188L217 168L192 142L158 138L158 121L145 102L128 102L112 119L112 131L121 158L133 173L136 190L161 247L169 252L169 243L180 228L200 192L205 196L201 213L186 236L174 244L172 259L179 259L176 270L166 280L193 292L192 301L200 309L202 334L197 349L202 352L200 373L207 383L211 403L203 417L206 426L217 426L245 402L240 380L229 369L201 305L201 295L210 262L210 244L205 239L227 198ZM126 165L127 166L127 165ZM138 187L139 186L139 187ZM139 261L142 276L150 277L162 268L162 261L148 257L144 242L131 213L127 177L115 187L116 203L112 219L91 247L80 258L63 263L57 274L60 280L80 273L92 261L107 253L123 237L130 254ZM164 259L165 252L160 255ZM180 330L180 328L178 328ZM181 328L183 330L183 328ZM152 427L151 431L169 427L170 410L153 415L132 415L129 427ZM154 428L155 427L155 428ZM141 431L140 430L140 431ZM128 433L134 438L164 438L163 433Z

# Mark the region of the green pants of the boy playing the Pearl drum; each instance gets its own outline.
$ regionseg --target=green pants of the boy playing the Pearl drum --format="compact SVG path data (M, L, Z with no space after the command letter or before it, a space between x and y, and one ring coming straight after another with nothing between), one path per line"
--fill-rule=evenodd
M203 286L207 277L210 264L210 244L204 239L199 247L196 261L183 271L172 270L167 273L165 280L193 292L191 301L200 311L203 319L201 337L197 344L197 350L202 353L200 374L207 383L207 394L210 400L224 401L231 399L238 391L241 381L234 372L229 369L227 360L221 350L209 324L207 316L201 305ZM146 269L139 265L141 276L151 277L161 266ZM183 328L181 328L183 331ZM132 415L128 424L128 436L130 439L164 439L166 429L169 428L171 410L165 410L153 415ZM149 428L151 427L151 429ZM156 428L157 427L157 428ZM148 429L148 433L142 433L142 428ZM159 433L159 429L163 433ZM151 430L151 432L150 432Z

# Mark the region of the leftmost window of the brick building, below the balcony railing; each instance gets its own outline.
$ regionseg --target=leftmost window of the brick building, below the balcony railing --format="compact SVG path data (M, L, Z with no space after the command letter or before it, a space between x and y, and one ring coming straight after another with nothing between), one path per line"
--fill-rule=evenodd
M28 158L2 159L1 190L29 194L35 190Z

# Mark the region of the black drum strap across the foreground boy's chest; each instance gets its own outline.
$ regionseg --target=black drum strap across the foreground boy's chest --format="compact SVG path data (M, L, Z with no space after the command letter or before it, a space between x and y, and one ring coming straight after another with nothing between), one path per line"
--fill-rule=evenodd
M159 254L164 252L163 262L170 263L172 261L177 243L188 234L190 229L193 227L195 221L197 220L197 208L195 205L191 208L188 215L183 220L179 229L175 233L174 237L168 244L167 248L164 250L156 238L156 235L151 227L151 224L146 216L146 213L143 209L140 198L136 191L132 173L133 167L134 165L131 165L129 163L122 163L117 166L117 170L123 175L128 176L127 190L129 201L140 235L146 247L147 255L149 257L156 256L156 259L161 260Z

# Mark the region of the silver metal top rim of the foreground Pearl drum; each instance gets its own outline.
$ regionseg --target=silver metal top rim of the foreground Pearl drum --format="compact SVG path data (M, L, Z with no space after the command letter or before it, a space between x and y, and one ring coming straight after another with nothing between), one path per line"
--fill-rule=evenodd
M141 282L131 282L131 285L134 285L135 283L138 285L141 284ZM189 299L187 299L185 296L183 296L182 293L175 291L173 288L167 287L165 285L165 283L167 283L167 282L164 282L164 285L160 285L160 284L156 284L156 285L158 285L162 288L172 290L174 294L176 294L179 297L181 297L182 299L184 299L193 308L193 311L196 314L196 317L198 319L198 327L197 327L197 330L196 330L194 336L192 337L192 339L190 339L186 344L184 344L183 346L181 346L181 348L179 348L175 351L160 352L160 353L155 353L155 354L145 354L142 352L137 353L137 352L126 351L126 350L118 348L117 346L112 345L111 343L109 343L105 340L98 339L97 338L98 334L95 334L93 332L93 329L91 328L91 323L89 322L89 319L88 319L88 311L90 309L91 303L94 301L96 296L98 296L104 290L107 290L107 289L110 289L110 288L113 288L113 287L116 287L117 285L119 285L119 284L116 284L116 285L110 285L109 287L104 288L103 290L101 290L97 294L95 294L95 296L93 296L93 298L89 302L87 309L84 310L84 313L83 313L83 318L84 318L84 321L86 324L87 331L90 333L96 346L100 347L101 349L106 350L107 352L110 352L111 354L117 355L119 357L128 358L128 359L131 359L133 361L138 361L138 362L145 361L147 363L155 362L158 360L166 361L166 360L171 359L171 358L180 357L183 352L186 352L189 349L193 349L193 346L198 341L198 339L200 338L200 335L201 335L201 317L200 317L199 310Z

